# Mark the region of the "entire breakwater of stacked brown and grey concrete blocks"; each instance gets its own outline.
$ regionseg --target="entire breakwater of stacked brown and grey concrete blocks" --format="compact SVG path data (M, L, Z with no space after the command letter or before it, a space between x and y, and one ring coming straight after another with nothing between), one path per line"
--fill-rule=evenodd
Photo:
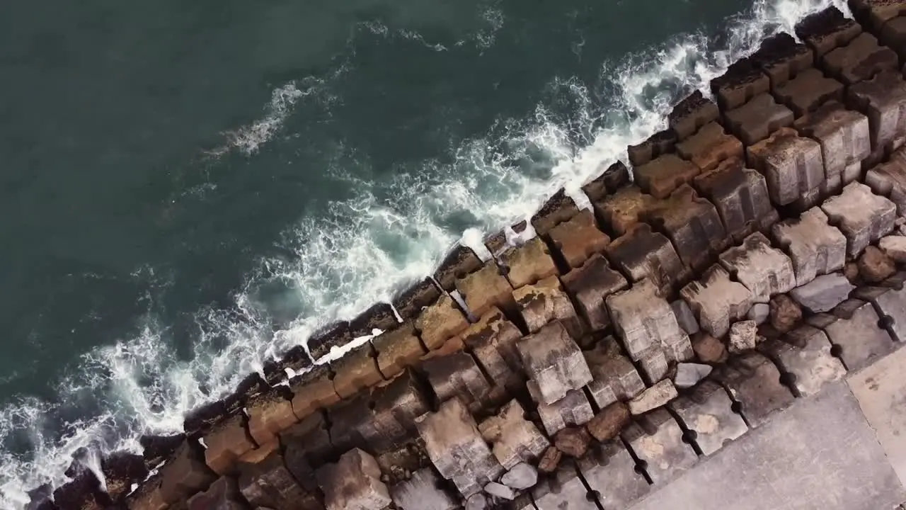
M295 348L183 435L102 459L103 488L74 465L32 507L629 508L890 353L906 1L851 6L679 103L583 188L593 211L558 192L537 237L460 246L309 340L384 331L345 357Z

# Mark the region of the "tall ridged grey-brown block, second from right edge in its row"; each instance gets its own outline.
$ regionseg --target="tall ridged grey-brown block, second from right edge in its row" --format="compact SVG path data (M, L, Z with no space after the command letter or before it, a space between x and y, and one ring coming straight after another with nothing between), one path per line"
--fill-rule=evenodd
M852 180L848 176L843 179L846 168L862 162L872 152L868 117L847 110L835 101L797 120L795 128L802 136L821 144L827 181L840 180L848 184Z

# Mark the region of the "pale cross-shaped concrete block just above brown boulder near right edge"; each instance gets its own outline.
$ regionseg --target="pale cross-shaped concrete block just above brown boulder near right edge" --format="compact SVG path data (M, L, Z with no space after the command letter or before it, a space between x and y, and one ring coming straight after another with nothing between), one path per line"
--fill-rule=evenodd
M851 258L891 233L896 218L896 205L861 182L847 184L843 194L824 201L821 210L846 236L846 255Z

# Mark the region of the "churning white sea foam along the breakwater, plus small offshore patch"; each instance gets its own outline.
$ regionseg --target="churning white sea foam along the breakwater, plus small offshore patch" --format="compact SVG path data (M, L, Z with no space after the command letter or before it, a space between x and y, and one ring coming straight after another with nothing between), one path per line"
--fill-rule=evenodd
M352 200L286 232L283 244L293 256L263 260L236 295L234 309L198 310L198 338L188 361L168 347L166 325L149 317L133 338L86 354L82 373L63 379L56 403L29 397L5 407L0 439L33 447L26 456L0 452L0 507L22 507L26 490L62 483L82 446L138 451L141 434L178 431L188 409L225 395L266 358L429 274L451 242L478 245L485 232L528 218L559 187L577 193L602 163L622 158L627 144L661 129L684 86L707 88L760 39L791 32L795 21L832 4L846 12L842 0L759 1L728 23L726 47L688 35L602 64L606 104L595 103L597 94L584 83L554 80L552 92L574 105L569 116L539 105L531 118L501 122L486 138L462 143L452 167L426 162L434 168L400 176L385 188L356 186ZM277 89L265 120L237 132L231 146L255 152L279 131L293 104L305 100L305 90L296 83ZM380 198L387 196L392 198ZM451 227L457 218L471 222L465 232ZM298 318L276 333L266 305L254 297L255 289L271 282L290 289L285 298L299 306ZM63 423L62 433L46 435L45 420L67 416L67 407L84 402L95 417Z

